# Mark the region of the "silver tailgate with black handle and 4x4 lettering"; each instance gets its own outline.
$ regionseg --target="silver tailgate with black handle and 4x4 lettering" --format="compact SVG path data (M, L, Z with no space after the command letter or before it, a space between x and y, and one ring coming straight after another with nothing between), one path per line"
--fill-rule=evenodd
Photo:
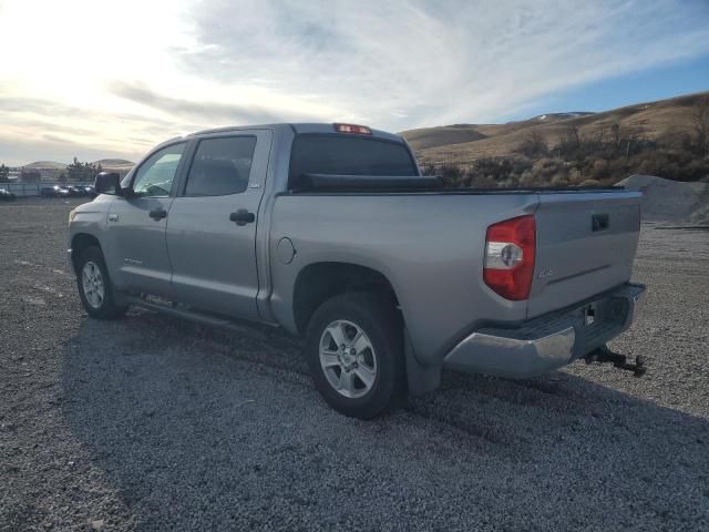
M630 279L640 193L540 194L527 317L563 308Z

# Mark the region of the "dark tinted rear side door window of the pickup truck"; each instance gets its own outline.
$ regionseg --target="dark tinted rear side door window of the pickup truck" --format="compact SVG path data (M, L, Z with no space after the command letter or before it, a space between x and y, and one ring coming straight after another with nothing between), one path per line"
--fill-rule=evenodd
M199 141L187 174L185 196L239 194L248 186L255 136L228 136Z

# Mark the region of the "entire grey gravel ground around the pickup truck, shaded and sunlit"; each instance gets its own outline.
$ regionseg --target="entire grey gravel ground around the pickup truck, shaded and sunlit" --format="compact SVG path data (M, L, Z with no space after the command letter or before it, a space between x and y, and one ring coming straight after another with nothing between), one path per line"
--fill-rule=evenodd
M0 205L0 531L709 530L709 233L644 227L646 377L448 374L362 422L278 331L90 320L71 205Z

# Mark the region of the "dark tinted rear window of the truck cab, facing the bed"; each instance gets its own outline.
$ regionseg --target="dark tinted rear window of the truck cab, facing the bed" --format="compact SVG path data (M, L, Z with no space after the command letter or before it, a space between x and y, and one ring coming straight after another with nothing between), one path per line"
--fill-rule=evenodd
M369 136L302 133L290 153L288 187L297 188L304 174L419 175L405 144Z

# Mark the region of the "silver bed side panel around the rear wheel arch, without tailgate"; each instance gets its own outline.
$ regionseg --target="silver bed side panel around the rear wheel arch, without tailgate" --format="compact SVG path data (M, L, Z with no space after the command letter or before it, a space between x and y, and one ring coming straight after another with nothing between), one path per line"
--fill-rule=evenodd
M440 364L448 348L484 320L522 320L526 301L507 301L482 280L489 225L533 213L534 194L279 195L269 235L271 310L296 330L298 273L320 262L366 266L391 283L417 358ZM288 237L294 260L278 262Z

